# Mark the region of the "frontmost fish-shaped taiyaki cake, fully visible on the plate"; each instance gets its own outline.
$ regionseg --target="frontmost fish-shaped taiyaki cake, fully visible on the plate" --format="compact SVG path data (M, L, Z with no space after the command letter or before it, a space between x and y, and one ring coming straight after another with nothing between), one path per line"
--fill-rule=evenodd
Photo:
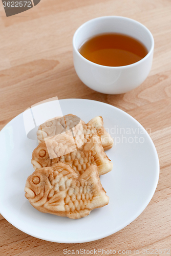
M28 177L25 193L37 210L71 219L86 217L109 203L95 165L81 176L64 163L40 168Z

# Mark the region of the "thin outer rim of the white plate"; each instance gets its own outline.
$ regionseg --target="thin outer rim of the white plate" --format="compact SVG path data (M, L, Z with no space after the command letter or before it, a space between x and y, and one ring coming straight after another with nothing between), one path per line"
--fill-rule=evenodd
M96 238L94 238L93 240L92 239L82 239L81 241L63 241L63 240L51 240L51 239L45 239L45 238L41 238L39 236L35 236L34 234L32 234L31 232L27 232L25 231L24 229L22 228L18 228L16 224L13 224L13 222L10 220L8 220L8 218L5 218L4 215L2 214L2 209L0 209L0 214L11 224L13 225L14 227L16 227L17 229L21 230L22 232L26 233L26 234L29 234L30 236L32 237L35 237L35 238L38 238L38 239L41 239L41 240L45 240L45 241L49 241L49 242L55 242L55 243L63 243L63 244L75 244L75 243L88 243L88 242L93 242L93 241L97 241L99 239L103 239L105 237L109 237L111 236L112 234L120 231L121 229L123 229L124 227L126 227L127 225L131 224L134 220L136 220L138 218L138 216L144 211L144 209L147 207L147 205L149 204L149 202L152 200L154 194L155 194L155 191L156 191L156 188L157 188L157 185L158 185L158 181L159 181L159 175L160 175L160 163L159 163L159 157L158 157L158 154L157 154L157 150L156 150L156 147L155 147L155 144L153 142L153 140L151 139L151 137L149 136L149 134L147 133L147 131L144 129L144 127L141 125L140 122L138 122L134 117L132 117L130 114L126 113L125 111L117 108L116 106L113 106L111 104L108 104L108 103L105 103L105 102L102 102L102 101L99 101L99 100L91 100L91 99L81 99L81 98L68 98L68 99L58 99L59 100L59 104L61 101L68 101L68 100L71 100L71 101L93 101L95 103L100 103L100 104L105 104L105 105L108 105L110 106L110 108L114 108L114 109L117 109L117 111L123 113L124 115L126 115L127 117L131 118L135 123L137 123L138 125L140 125L140 127L145 131L145 134L147 135L149 141L151 141L151 144L153 146L153 150L154 150L154 153L155 153L155 156L156 156L156 163L157 163L157 168L156 168L156 173L157 173L157 180L156 180L156 184L154 186L154 189L153 189L153 193L151 195L151 197L149 197L145 207L141 208L138 213L136 215L134 215L129 221L127 221L126 223L124 223L123 225L121 225L120 227L118 227L118 229L116 229L116 231L114 232L106 232L106 233L103 233L103 235L100 235L100 236L96 236ZM42 104L47 104L48 102L44 102ZM15 119L17 119L20 115L22 115L24 112L18 114L17 116L15 116L13 119L11 119L4 127L3 129L0 131L0 133L5 130L6 126L8 126L11 122L13 122Z

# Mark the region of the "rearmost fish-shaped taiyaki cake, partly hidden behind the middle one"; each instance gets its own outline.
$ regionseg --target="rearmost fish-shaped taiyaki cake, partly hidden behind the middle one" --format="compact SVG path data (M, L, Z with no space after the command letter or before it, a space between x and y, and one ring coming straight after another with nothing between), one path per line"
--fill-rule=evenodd
M45 139L52 138L52 136L67 132L70 129L72 129L72 135L74 136L78 147L83 143L86 143L93 134L98 134L100 136L102 147L105 151L113 146L113 138L105 131L101 116L93 118L86 124L72 114L61 118L54 118L41 124L37 131L38 142L41 143Z

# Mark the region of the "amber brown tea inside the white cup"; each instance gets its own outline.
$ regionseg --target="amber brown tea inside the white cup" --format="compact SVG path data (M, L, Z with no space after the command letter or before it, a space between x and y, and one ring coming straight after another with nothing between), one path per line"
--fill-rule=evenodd
M84 42L80 54L99 65L119 67L133 64L147 55L146 47L137 39L122 34L101 34Z

